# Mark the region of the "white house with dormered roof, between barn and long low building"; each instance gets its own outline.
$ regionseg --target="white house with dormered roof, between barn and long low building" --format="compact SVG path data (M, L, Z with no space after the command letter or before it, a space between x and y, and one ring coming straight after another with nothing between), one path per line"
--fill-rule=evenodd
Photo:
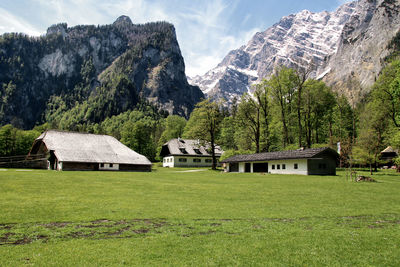
M219 146L215 147L217 160L222 154ZM212 156L209 145L202 145L199 140L172 139L162 146L160 156L163 167L211 167Z

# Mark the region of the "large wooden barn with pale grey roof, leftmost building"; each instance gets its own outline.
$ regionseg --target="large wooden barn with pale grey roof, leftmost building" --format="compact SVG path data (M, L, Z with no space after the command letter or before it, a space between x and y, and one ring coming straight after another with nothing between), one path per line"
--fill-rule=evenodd
M35 154L47 154L51 170L151 171L145 156L109 135L49 130L34 141Z

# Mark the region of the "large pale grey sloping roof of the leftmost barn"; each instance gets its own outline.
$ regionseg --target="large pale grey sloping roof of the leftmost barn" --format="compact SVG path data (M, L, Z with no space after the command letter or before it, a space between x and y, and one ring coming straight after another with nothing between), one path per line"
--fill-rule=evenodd
M43 142L63 162L151 165L145 156L109 135L49 130L36 142Z

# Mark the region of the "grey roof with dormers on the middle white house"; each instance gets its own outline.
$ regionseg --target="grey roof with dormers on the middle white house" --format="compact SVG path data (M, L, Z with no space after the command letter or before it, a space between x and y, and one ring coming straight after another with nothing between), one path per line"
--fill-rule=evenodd
M210 157L211 153L208 153L209 148L209 143L206 143L206 145L202 145L202 142L200 142L199 140L177 138L171 139L163 145L160 156L165 157L168 155L186 155L197 157ZM221 149L221 147L216 145L215 155L219 157L222 153L223 150Z

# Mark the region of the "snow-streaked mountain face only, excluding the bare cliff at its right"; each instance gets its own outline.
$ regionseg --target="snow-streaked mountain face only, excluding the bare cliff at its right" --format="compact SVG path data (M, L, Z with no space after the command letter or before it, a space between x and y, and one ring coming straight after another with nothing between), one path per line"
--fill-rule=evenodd
M210 97L229 101L251 90L252 84L279 66L322 66L325 58L336 52L343 26L355 6L348 3L335 12L304 10L283 17L266 31L256 33L247 45L231 51L216 68L192 78L191 83Z

